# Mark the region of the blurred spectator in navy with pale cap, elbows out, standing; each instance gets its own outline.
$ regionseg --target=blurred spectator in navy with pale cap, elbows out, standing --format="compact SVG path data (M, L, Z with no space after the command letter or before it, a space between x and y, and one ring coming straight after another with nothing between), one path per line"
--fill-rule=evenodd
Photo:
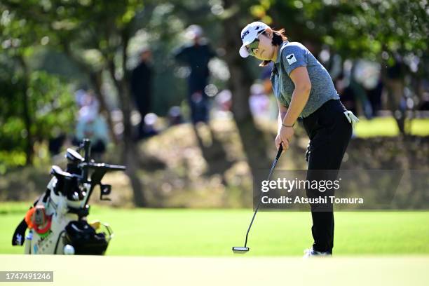
M204 88L210 76L208 63L215 56L212 48L203 38L203 29L198 25L188 27L186 36L191 43L175 51L175 59L191 68L188 77L188 103L191 107L192 123L208 121L208 97Z

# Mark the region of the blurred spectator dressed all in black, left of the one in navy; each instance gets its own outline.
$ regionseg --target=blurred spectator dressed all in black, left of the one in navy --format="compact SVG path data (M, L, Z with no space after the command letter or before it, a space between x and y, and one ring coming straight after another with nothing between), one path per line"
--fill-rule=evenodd
M151 111L151 51L144 49L140 52L140 62L132 70L131 74L131 93L134 97L135 106L140 113L140 123L138 125L137 136L146 137L144 118Z

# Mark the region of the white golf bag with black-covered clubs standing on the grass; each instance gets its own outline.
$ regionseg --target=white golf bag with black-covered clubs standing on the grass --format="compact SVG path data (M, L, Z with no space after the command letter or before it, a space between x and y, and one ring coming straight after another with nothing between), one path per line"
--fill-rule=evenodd
M100 200L110 200L106 196L111 186L101 179L106 172L123 171L125 166L95 163L90 159L89 139L83 139L76 151L67 149L65 158L67 169L53 165L45 193L13 233L12 245L25 245L25 254L102 255L113 237L108 224L87 222L88 201L95 186L100 186Z

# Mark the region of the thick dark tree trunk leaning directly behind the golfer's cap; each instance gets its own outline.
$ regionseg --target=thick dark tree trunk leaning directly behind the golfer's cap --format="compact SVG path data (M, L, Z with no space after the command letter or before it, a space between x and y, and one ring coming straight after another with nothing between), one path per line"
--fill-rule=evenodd
M226 9L232 8L233 5L233 1L225 1ZM240 13L239 11L240 9L238 9L238 13ZM229 87L233 95L233 116L243 142L247 161L254 176L257 170L269 168L270 162L266 155L264 134L255 127L250 113L249 97L253 79L245 67L245 61L248 59L243 59L238 54L238 49L242 45L240 32L243 28L238 21L239 19L240 17L237 17L237 15L231 15L231 17L223 21L225 49L230 51L226 53L225 59L231 74Z

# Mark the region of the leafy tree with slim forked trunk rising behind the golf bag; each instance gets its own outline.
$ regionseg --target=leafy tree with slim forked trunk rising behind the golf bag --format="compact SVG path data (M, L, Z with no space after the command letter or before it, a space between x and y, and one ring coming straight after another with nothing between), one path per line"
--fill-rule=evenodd
M128 166L135 204L146 205L136 174L137 146L132 137L130 75L126 68L128 43L136 30L135 19L142 11L142 1L5 0L3 4L19 17L28 34L34 29L44 29L50 45L64 50L90 74L96 83L96 93L101 94L102 71L109 71L122 111L122 160ZM103 105L104 100L100 99Z

